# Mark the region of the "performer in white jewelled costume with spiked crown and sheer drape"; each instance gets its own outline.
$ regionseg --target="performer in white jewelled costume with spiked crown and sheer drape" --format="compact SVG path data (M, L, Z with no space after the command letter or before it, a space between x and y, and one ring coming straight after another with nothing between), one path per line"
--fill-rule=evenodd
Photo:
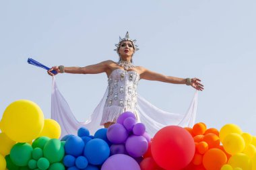
M137 84L139 79L150 81L162 81L165 83L185 84L203 91L203 85L197 78L183 79L155 73L141 66L134 66L132 62L133 54L137 48L136 40L129 38L129 33L125 38L119 37L116 44L119 61L106 60L96 65L86 67L64 67L63 65L52 67L48 74L53 76L51 71L57 73L71 74L98 74L106 73L108 77L108 88L106 93L92 114L90 120L78 122L73 116L67 102L57 89L55 79L53 79L52 95L52 118L61 125L62 134L76 134L81 126L89 128L95 132L100 126L108 128L115 124L117 118L123 112L133 112L137 121L146 125L146 130L153 136L160 128L168 125L193 126L197 109L197 92L191 103L187 114L173 114L164 112L137 95Z

